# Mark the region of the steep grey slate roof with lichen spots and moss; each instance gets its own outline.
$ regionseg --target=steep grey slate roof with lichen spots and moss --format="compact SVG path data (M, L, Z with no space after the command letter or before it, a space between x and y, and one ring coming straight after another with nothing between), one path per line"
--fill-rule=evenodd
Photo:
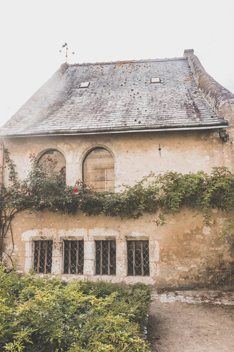
M199 92L186 58L69 65L47 98L16 120L1 136L228 124Z

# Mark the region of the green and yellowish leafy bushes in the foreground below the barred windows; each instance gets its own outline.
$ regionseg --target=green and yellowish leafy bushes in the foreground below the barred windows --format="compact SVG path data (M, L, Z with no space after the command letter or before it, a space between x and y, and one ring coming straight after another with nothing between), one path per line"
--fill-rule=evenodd
M149 351L140 338L150 292L104 282L19 277L0 267L0 351Z

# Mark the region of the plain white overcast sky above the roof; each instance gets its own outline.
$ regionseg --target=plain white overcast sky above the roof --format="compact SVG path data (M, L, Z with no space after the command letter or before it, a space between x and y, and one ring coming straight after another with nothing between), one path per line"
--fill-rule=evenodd
M234 93L233 0L1 2L0 126L66 61L183 56ZM71 53L75 52L75 55Z

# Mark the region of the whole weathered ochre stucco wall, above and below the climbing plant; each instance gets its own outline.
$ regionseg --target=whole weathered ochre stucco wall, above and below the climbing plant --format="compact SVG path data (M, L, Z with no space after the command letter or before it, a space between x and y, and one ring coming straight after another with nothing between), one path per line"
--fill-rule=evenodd
M93 147L105 147L115 160L115 184L133 185L150 171L167 170L187 173L213 166L228 166L233 171L234 145L223 143L219 130L171 131L146 133L99 134L84 136L48 136L5 139L5 147L17 165L19 177L30 169L29 154L40 156L48 149L58 149L66 158L66 182L74 184L82 178L82 160ZM161 147L161 157L159 154ZM4 169L4 171L7 169ZM7 172L5 173L7 181ZM14 254L19 255L20 270L32 266L33 240L53 239L52 271L62 274L62 240L84 239L84 277L94 276L94 240L116 239L116 276L103 279L125 284L143 281L155 287L233 287L233 241L218 243L224 215L213 209L208 228L202 217L193 219L196 209L181 209L180 214L168 216L167 224L157 227L156 215L144 214L139 220L120 220L105 216L75 217L49 212L30 215L28 210L17 214L13 221ZM150 277L127 276L126 240L148 239ZM12 249L11 236L5 239ZM64 275L71 279L72 275Z

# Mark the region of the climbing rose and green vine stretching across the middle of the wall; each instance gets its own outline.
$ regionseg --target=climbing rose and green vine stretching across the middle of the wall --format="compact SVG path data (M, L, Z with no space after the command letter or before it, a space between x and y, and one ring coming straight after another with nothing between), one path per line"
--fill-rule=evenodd
M41 164L35 154L31 154L30 158L31 171L25 180L20 180L15 171L16 165L5 150L11 183L7 186L1 184L0 257L4 252L4 237L8 231L13 242L11 221L16 213L24 209L29 209L31 214L47 209L70 216L83 212L86 216L102 214L120 216L121 219L138 219L143 212L157 213L154 222L163 225L167 214L175 215L180 212L181 206L186 206L196 207L196 215L201 213L203 223L208 226L212 208L218 208L230 219L220 237L225 237L234 227L234 174L228 168L215 167L211 175L203 171L185 175L173 171L162 174L150 172L134 186L122 184L119 188L121 191L118 192L117 187L115 194L109 194L94 193L81 180L77 180L75 186L67 186L64 167L60 172L54 172L53 167L47 165L51 161L50 157ZM7 255L11 259L11 254Z

